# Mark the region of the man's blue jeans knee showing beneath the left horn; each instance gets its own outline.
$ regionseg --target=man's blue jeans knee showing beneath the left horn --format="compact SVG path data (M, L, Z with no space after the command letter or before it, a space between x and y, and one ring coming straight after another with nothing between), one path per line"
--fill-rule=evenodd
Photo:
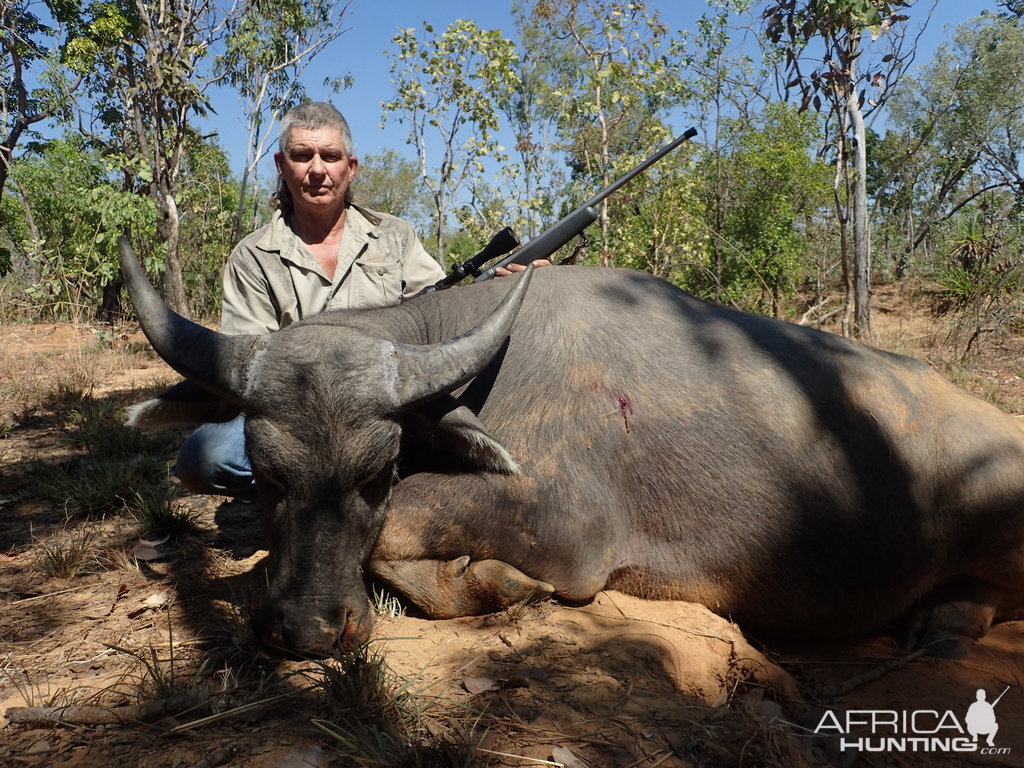
M178 449L174 474L194 494L256 498L252 464L246 456L246 420L204 424Z

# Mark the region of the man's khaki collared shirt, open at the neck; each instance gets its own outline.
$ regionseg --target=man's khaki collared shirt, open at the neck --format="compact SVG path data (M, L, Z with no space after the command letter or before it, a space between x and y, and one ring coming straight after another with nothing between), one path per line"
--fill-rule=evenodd
M221 331L264 334L327 309L390 306L444 276L413 225L351 205L329 280L280 211L224 265Z

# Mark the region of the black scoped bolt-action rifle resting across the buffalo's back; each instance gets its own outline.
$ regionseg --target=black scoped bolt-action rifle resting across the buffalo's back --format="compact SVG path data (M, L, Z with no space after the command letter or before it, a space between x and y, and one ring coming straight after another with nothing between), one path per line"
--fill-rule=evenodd
M450 288L467 275L473 275L473 278L475 278L475 283L482 283L485 280L494 278L495 271L500 267L508 266L509 264L528 264L537 259L548 258L551 254L572 240L572 238L578 234L583 234L584 229L597 221L598 213L596 206L598 203L607 198L613 191L616 191L624 184L632 181L670 152L678 147L684 141L689 141L695 135L697 135L696 128L690 128L682 136L677 137L671 143L663 146L640 165L633 168L625 176L612 184L609 184L604 189L601 189L601 191L580 206L580 208L558 221L550 229L534 238L534 240L529 241L526 245L518 248L518 250L513 251L512 249L519 246L519 239L516 238L515 232L513 232L511 228L506 226L498 232L498 234L490 239L490 242L484 246L482 251L475 256L466 259L466 261L453 264L451 272L444 275L441 280L437 281L434 285L424 288L420 291L420 294L422 295L425 293L431 293L432 291L440 291L444 288ZM502 259L494 266L489 266L481 271L480 267L488 261L498 258L499 256L504 256L510 251L512 252L511 255Z

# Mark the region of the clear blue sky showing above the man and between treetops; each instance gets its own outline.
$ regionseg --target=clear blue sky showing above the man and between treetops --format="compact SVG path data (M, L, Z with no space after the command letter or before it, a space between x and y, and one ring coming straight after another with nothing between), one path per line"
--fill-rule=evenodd
M650 0L670 29L690 30L694 19L709 11L709 4L698 0ZM915 0L912 18L921 18L932 7L932 0ZM982 10L995 10L994 0L938 0L932 20L922 38L918 63L928 60L931 52L949 38L953 26L978 15ZM391 37L400 27L422 31L426 22L440 31L456 18L469 18L484 29L501 29L511 35L510 3L496 0L352 0L345 16L346 32L326 49L306 71L305 86L312 98L330 98L346 116L352 128L358 155L376 154L391 147L412 156L404 143L406 129L398 125L380 127L380 102L391 95L388 57ZM341 93L329 96L323 89L325 78L351 73L354 83ZM221 145L231 158L232 168L244 161L245 128L238 102L230 91L214 94L217 117L210 129L216 130ZM674 126L682 132L686 126ZM261 176L272 173L272 165L264 162Z

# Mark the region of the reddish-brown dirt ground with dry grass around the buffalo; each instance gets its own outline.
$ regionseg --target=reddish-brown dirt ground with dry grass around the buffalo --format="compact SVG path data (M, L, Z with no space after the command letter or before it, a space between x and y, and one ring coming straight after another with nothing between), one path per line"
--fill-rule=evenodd
M958 361L927 298L883 287L879 345L1024 413L1020 339ZM701 606L614 592L474 618L381 617L373 652L419 715L415 738L471 757L353 757L325 666L262 654L250 634L267 555L258 507L183 495L195 531L140 542L130 515L67 519L23 493L80 452L75 402L121 408L175 380L135 329L0 326L0 766L1024 766L1024 622L950 662L888 637L764 646ZM90 566L47 575L47 550L83 539ZM814 733L868 711L963 723L978 689L1002 694L999 754L844 750L835 729Z

